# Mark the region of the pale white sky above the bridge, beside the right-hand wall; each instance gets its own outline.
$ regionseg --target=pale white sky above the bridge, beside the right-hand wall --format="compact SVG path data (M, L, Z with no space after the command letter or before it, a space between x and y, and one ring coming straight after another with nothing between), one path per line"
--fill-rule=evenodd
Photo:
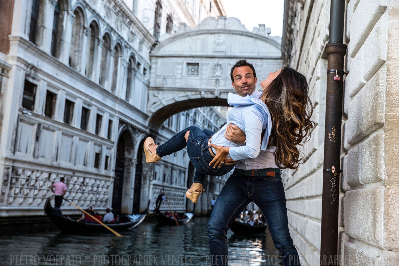
M252 32L258 24L271 29L271 36L282 36L284 0L222 0L227 18L234 17Z

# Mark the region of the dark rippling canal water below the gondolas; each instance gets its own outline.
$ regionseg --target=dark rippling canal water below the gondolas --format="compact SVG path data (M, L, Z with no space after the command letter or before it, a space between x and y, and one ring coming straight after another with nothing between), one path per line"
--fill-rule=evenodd
M0 236L0 265L210 265L209 217L159 226L146 219L131 231L72 235L60 232ZM229 232L230 266L281 265L270 234Z

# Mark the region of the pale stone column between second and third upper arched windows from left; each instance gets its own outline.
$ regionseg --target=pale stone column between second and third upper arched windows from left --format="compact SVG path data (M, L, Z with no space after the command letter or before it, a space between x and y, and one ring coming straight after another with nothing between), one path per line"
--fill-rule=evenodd
M75 15L64 10L61 41L59 44L59 59L65 65L69 65L69 53L71 52L72 25Z

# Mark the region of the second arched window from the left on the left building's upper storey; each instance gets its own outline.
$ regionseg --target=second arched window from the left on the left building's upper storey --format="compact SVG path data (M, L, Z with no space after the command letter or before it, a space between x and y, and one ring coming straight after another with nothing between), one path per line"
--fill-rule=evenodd
M51 32L51 47L50 53L55 57L59 57L60 53L60 43L61 34L63 30L63 16L64 16L65 6L61 0L57 1L54 8L54 18L53 18L53 28Z

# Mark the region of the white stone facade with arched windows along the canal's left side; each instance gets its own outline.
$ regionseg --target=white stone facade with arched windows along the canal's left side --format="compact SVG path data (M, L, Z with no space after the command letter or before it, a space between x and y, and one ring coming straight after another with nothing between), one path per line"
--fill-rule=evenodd
M160 35L167 14L172 25L193 26L202 16L225 15L217 0L194 1L214 7L198 18L180 2L164 1ZM202 108L159 128L148 124L156 38L146 20L154 22L156 6L156 0L15 0L10 49L0 53L0 216L43 215L49 187L60 177L65 197L81 207L142 211L160 189L169 189L172 207L186 209L188 156L166 156L157 170L145 164L142 142L148 135L166 140L192 123L216 130L220 114ZM156 171L162 179L154 178ZM65 202L63 212L78 213Z

